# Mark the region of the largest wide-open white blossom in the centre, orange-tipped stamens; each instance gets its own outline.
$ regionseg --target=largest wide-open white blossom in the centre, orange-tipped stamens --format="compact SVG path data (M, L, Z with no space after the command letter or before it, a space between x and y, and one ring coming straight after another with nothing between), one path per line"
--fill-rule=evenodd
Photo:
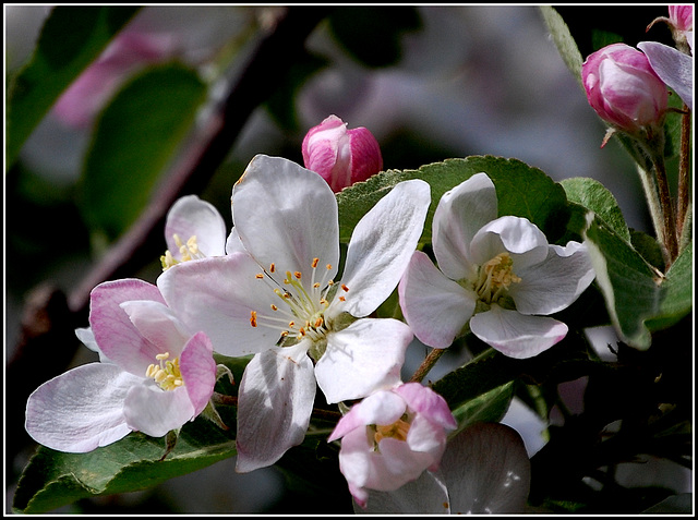
M332 189L290 160L258 155L232 191L244 251L158 278L168 305L217 352L254 354L238 392L238 471L270 465L303 440L316 386L335 403L400 384L413 335L400 321L368 316L396 288L430 203L424 181L398 183L356 226L335 280Z

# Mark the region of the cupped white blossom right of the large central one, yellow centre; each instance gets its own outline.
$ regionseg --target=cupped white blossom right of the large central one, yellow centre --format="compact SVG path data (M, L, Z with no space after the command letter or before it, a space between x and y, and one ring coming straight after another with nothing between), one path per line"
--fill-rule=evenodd
M398 286L407 323L423 343L446 348L470 330L510 358L531 358L567 334L549 314L569 306L594 271L586 245L547 243L525 218L497 218L494 184L477 173L446 192L432 225L438 267L416 251Z

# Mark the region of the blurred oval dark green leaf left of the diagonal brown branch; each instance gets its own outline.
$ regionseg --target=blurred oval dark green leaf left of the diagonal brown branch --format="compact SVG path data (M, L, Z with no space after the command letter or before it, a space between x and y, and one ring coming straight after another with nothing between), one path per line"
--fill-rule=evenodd
M83 171L85 220L113 240L142 213L191 130L206 86L177 63L132 78L101 112Z

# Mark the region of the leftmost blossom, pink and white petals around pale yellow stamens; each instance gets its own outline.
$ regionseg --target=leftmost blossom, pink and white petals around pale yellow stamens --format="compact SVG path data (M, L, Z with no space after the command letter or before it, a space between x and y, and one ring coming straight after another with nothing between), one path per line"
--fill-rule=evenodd
M217 370L210 341L186 330L157 287L136 279L100 283L91 294L89 325L77 336L100 362L29 396L25 427L36 442L86 452L132 431L161 437L206 408Z

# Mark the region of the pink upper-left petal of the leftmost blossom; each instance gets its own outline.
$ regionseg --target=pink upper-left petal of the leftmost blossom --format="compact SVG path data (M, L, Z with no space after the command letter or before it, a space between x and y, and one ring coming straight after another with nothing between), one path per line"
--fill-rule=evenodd
M121 309L121 303L131 300L165 303L158 288L143 280L106 281L95 287L89 295L89 325L107 358L123 370L141 375L160 351L139 332Z

